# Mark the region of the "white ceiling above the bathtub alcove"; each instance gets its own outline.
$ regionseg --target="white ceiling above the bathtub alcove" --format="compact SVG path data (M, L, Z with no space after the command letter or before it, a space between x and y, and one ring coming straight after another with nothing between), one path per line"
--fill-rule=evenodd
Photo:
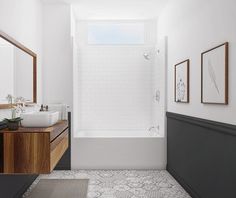
M73 5L77 19L157 18L168 0L43 0Z

